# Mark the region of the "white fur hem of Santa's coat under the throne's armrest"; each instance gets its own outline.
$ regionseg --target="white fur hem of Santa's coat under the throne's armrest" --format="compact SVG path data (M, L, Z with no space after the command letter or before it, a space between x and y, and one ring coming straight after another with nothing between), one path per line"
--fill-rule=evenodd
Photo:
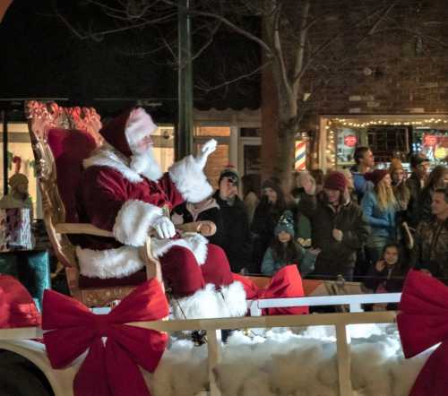
M92 250L76 246L80 272L89 278L124 278L144 267L138 248L121 246L116 249Z

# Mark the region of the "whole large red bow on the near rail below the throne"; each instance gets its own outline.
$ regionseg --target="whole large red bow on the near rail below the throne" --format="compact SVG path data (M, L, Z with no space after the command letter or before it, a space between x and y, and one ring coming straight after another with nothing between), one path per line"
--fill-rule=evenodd
M125 325L168 315L168 302L157 280L148 280L109 314L92 314L79 301L46 290L42 329L51 366L63 368L89 349L74 377L75 396L151 396L138 366L153 372L168 335ZM107 337L104 343L102 337ZM138 366L137 366L138 365Z

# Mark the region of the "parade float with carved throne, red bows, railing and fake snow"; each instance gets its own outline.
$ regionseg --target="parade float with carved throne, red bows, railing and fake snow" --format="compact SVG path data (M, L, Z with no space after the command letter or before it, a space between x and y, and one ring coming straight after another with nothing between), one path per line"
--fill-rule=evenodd
M31 102L29 110L41 106L46 105ZM303 288L285 294L281 280L297 277L297 267L288 266L272 279L236 278L252 290L247 293L251 316L184 320L170 317L151 236L142 248L147 265L141 279L101 285L83 279L67 236L111 236L67 218L74 195L60 196L57 185L60 177L76 182L73 160L100 142L99 117L91 109L55 104L47 109L60 124L48 128L39 124L39 112L30 112L31 141L47 232L65 265L72 297L46 290L40 313L19 282L0 277L0 388L6 394L446 394L445 346L431 348L444 341L441 302L448 291L419 272L411 272L402 297L363 295L357 284L343 280L304 281ZM76 158L74 151L55 150L75 145ZM210 224L189 227L212 231ZM398 328L396 312L362 312L362 304L400 299ZM349 309L307 314L308 306ZM289 314L282 314L285 309ZM221 331L228 329L233 332L222 342ZM201 346L191 340L192 331L205 332Z

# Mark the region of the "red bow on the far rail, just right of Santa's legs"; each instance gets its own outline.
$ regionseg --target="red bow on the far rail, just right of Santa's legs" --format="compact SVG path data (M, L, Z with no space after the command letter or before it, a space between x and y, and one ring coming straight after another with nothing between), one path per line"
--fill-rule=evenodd
M287 265L281 268L271 278L265 288L259 288L254 281L245 276L233 274L234 280L240 281L246 291L249 300L266 298L304 297L302 278L297 270L297 265ZM308 314L307 306L293 306L289 308L266 308L263 314Z

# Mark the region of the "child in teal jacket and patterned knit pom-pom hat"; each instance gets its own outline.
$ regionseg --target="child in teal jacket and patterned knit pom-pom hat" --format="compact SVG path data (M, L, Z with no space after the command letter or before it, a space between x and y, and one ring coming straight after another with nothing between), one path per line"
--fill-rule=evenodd
M314 271L314 262L319 249L305 250L295 240L294 222L291 211L285 211L274 229L275 238L263 257L263 275L271 276L280 268L297 264L302 277Z

